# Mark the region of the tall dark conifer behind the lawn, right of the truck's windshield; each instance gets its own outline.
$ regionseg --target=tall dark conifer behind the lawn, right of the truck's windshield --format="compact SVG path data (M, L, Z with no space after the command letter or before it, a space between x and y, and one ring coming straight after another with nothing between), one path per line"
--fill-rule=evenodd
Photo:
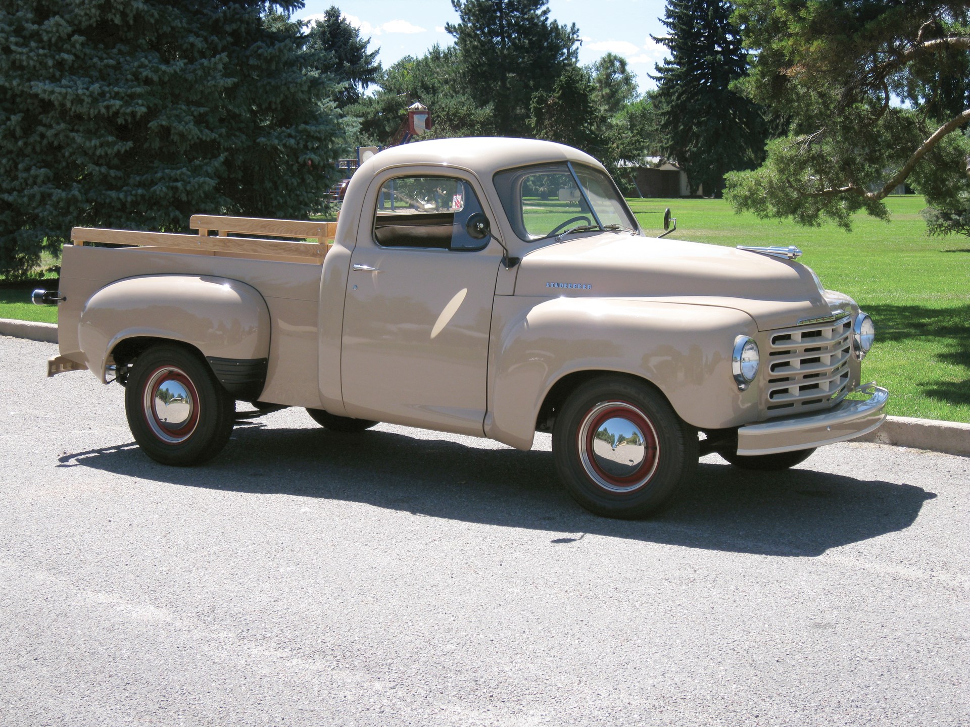
M766 124L751 101L730 89L747 70L746 51L727 0L668 0L654 38L670 51L657 66L654 102L665 154L687 172L692 191L720 193L724 175L757 167Z

